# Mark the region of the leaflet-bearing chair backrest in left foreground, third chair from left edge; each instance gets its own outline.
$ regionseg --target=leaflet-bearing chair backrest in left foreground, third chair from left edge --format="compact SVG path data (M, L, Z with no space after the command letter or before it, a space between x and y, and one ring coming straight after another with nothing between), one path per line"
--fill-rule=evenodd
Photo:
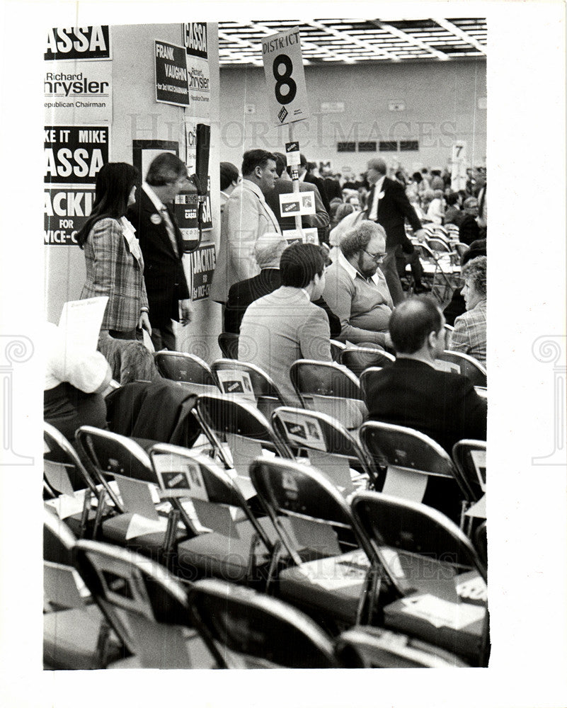
M217 507L236 507L244 512L268 551L273 550L273 543L251 512L236 481L210 457L190 452L185 447L159 443L151 447L149 458L159 481L161 498L171 499L185 525L198 532L183 500L192 501L192 511L202 527L224 535L232 527L230 513Z

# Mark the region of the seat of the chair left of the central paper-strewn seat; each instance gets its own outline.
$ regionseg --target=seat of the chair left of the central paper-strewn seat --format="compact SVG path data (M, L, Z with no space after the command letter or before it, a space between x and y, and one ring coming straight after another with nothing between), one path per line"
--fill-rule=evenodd
M275 542L277 532L268 517L258 520L270 541ZM254 534L253 525L246 519L236 523L239 538L230 537L229 531L204 533L178 544L180 566L193 566L205 571L206 576L223 578L233 583L246 581L250 565L250 549ZM268 564L270 554L262 542L256 544L256 567Z

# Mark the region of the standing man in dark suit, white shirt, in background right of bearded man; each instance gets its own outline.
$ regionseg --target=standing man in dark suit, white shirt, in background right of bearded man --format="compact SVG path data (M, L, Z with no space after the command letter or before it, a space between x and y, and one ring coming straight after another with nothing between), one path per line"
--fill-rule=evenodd
M396 248L401 245L405 253L413 252L411 241L406 236L406 219L418 239L425 238L425 232L421 228L416 211L406 197L403 185L386 177L384 160L369 160L367 167L367 180L371 188L367 199L366 218L378 222L386 231L386 258L382 264L382 273L394 305L397 305L403 300L403 290L396 268Z

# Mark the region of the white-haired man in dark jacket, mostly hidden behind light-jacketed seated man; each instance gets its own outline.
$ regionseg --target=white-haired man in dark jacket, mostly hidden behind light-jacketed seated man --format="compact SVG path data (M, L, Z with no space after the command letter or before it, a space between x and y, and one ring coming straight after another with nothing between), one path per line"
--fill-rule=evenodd
M280 287L280 258L287 245L287 241L282 239L280 234L264 234L256 241L254 257L260 267L260 273L253 278L235 282L231 286L227 307L224 310L225 332L239 334L240 324L248 305ZM338 337L340 334L338 316L331 312L322 297L316 299L314 304L322 307L327 313L331 338Z

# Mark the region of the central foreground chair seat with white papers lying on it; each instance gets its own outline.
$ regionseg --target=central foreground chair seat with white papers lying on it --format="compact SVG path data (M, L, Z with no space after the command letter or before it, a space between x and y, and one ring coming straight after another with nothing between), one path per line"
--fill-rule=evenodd
M352 625L369 566L365 552L355 550L288 568L280 573L280 598Z

